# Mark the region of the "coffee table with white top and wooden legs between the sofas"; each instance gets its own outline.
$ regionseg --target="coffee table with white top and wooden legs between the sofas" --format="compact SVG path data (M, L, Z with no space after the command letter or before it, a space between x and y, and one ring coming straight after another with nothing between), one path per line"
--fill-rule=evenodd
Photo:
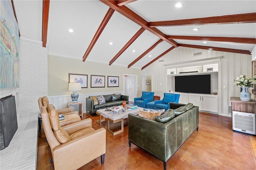
M108 131L110 131L110 133L112 133L112 135L117 135L119 133L122 133L124 131L124 119L128 118L128 114L134 114L134 115L138 115L139 114L139 110L143 110L142 107L138 107L137 109L134 110L125 110L125 111L118 111L118 114L116 115L112 115L112 111L105 111L105 109L99 109L96 111L96 114L100 116L100 120L97 121L100 124L101 127L101 122L103 121L108 121ZM103 118L102 118L103 117ZM107 118L107 120L106 120ZM117 123L121 121L121 129L119 131L113 132L110 130L109 127L109 122L112 123Z

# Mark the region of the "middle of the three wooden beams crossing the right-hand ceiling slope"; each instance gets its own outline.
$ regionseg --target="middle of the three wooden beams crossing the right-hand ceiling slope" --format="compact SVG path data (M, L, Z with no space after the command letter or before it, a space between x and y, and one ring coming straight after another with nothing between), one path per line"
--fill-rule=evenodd
M180 36L180 35L167 35L168 39L190 39L202 41L222 41L232 43L246 43L256 44L255 38L239 38L239 37L200 37L200 36Z

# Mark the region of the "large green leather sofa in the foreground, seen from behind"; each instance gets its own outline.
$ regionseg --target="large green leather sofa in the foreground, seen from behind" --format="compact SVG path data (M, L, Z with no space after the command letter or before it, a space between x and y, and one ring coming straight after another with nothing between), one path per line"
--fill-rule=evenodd
M181 106L186 107L187 105L185 106L184 104L170 102L170 109L174 109L174 111L175 109L184 108ZM192 105L191 109L179 114L180 115L177 115L166 123L129 114L129 147L131 147L131 143L133 143L134 145L146 150L156 158L163 161L164 170L166 170L167 161L170 157L180 148L195 129L198 131L198 106Z

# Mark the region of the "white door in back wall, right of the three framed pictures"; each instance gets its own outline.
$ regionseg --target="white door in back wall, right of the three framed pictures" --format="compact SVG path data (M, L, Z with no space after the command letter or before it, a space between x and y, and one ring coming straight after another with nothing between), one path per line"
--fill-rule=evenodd
M129 96L130 102L137 96L137 79L137 75L124 74L124 95Z

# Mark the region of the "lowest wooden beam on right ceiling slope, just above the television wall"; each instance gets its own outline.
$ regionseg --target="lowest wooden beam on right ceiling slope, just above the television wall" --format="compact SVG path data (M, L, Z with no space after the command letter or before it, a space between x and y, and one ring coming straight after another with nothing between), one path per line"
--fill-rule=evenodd
M188 45L188 44L179 44L180 47L190 47L195 49L206 49L206 50L214 50L214 51L224 51L229 53L240 53L240 54L248 54L250 55L251 52L248 50L238 50L238 49L227 49L227 48L219 48L219 47L208 47L208 46L201 46L201 45Z

